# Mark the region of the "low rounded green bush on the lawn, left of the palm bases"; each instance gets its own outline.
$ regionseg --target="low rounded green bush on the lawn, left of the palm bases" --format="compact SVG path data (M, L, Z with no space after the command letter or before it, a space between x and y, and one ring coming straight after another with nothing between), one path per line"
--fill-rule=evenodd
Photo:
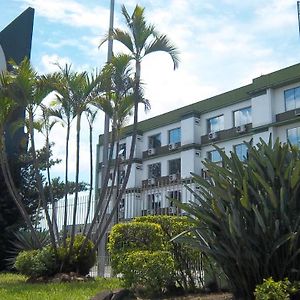
M14 266L21 274L31 278L49 276L57 271L54 253L50 247L20 252Z

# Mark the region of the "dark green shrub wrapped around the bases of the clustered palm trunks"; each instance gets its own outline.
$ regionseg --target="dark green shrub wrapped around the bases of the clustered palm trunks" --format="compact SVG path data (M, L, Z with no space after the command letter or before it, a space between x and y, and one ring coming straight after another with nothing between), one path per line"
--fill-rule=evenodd
M93 251L94 243L91 240L87 242L82 254L80 254L84 239L85 236L81 234L75 236L73 251L70 256L68 255L70 238L66 240L66 248L63 246L58 248L58 259L62 265L63 272L77 272L81 275L86 275L96 263L96 253Z

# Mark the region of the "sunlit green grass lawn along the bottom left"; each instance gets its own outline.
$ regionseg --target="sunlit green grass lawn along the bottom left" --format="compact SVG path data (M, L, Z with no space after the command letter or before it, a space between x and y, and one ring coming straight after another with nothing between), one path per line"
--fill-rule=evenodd
M26 277L0 274L0 299L2 300L88 300L104 289L121 287L116 278L97 278L89 282L26 283Z

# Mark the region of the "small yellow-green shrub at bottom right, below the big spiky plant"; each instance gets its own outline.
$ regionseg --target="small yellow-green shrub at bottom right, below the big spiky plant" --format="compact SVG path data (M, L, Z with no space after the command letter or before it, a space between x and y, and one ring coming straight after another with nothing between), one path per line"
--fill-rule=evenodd
M286 278L281 281L274 281L272 277L264 279L264 282L255 288L256 300L288 300L290 282Z

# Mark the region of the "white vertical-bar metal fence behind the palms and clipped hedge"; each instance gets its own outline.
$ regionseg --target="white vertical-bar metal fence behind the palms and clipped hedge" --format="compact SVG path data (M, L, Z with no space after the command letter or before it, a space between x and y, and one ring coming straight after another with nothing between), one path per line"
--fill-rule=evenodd
M146 215L185 215L185 212L176 205L176 201L174 201L174 199L182 203L187 203L194 200L193 194L186 188L186 186L190 187L192 190L197 190L197 186L192 183L191 178L159 182L144 181L142 187L127 189L119 205L116 220L118 222L126 222L130 221L134 217ZM88 223L90 223L94 217L95 204L95 195L93 195L90 203ZM81 195L78 197L75 225L76 233L81 233L83 231L88 205L88 195L81 193ZM110 213L112 205L112 203L109 205L108 213ZM50 215L52 214L52 209L53 208L50 206ZM58 229L61 231L64 222L64 199L59 200L55 204L54 209ZM68 230L70 230L72 226L73 211L74 197L69 196L67 204ZM47 223L45 221L44 214L42 214L40 227L44 230L47 229ZM105 262L105 276L109 277L111 275L109 257L105 256ZM97 266L91 270L91 275L97 275Z

